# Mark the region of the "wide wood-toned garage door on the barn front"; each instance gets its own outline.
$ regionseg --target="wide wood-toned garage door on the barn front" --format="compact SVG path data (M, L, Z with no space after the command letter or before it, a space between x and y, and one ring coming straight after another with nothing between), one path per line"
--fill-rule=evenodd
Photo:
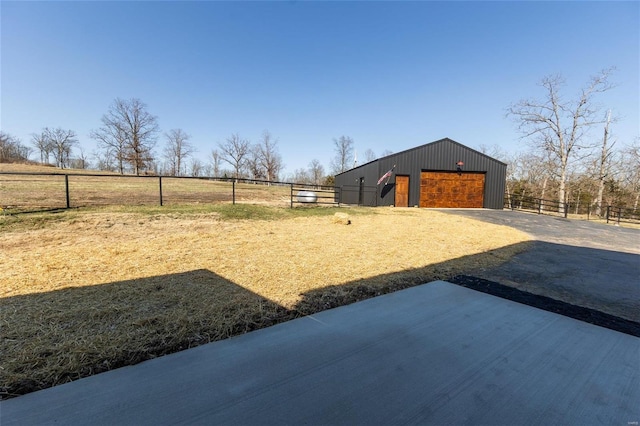
M420 207L482 208L484 173L420 173Z

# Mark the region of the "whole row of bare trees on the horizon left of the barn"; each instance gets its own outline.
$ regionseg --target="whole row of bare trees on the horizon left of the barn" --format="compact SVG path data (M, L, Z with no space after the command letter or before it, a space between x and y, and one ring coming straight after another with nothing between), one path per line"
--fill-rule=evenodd
M162 174L168 176L214 176L277 181L284 168L278 150L278 139L265 130L258 142L251 143L238 133L216 145L203 163L196 152L191 136L183 129L162 133L156 116L149 113L140 99L116 98L101 118L101 126L90 133L97 150L93 162L89 160L73 130L45 127L31 135L31 147L10 134L0 132L0 162L28 162L31 154L39 156L41 164L56 167L112 171L120 174ZM156 146L163 140L160 155ZM331 172L347 170L354 156L354 141L348 136L334 139L336 158ZM74 155L75 153L75 155ZM368 161L375 159L367 150ZM313 159L308 168L297 169L289 180L315 185L332 184L332 176L325 173L319 160Z

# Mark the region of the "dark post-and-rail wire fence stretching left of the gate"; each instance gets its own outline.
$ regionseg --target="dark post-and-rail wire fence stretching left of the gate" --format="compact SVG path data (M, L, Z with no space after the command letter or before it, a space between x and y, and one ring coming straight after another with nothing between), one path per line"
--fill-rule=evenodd
M12 213L87 206L229 202L286 207L291 205L293 185L296 184L215 177L0 172L0 208Z

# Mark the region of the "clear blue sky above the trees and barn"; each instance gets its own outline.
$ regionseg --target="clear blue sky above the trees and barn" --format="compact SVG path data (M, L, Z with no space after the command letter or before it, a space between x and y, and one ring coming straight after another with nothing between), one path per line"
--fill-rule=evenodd
M2 1L0 14L0 128L27 144L62 127L90 153L113 100L135 97L203 161L232 133L269 130L285 174L328 170L342 135L359 156L443 137L522 151L509 104L557 73L575 97L610 66L618 86L598 101L621 144L640 134L639 2Z

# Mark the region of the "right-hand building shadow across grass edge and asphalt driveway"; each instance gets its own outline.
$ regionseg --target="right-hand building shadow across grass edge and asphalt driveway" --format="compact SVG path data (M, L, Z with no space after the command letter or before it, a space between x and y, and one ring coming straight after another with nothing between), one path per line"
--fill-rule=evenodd
M487 256L504 258L505 251L516 254L502 264L486 265ZM640 255L530 241L421 269L324 287L305 293L297 310L309 315L441 279L640 337L639 276Z

